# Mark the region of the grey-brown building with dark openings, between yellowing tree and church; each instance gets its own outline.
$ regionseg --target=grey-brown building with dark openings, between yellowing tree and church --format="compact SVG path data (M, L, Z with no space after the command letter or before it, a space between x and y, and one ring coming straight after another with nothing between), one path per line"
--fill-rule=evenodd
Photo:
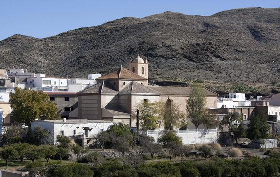
M68 118L69 114L78 107L78 96L75 92L46 92L50 97L50 101L54 101L57 105L58 113L62 118ZM76 110L77 111L77 110ZM76 118L73 117L72 118Z

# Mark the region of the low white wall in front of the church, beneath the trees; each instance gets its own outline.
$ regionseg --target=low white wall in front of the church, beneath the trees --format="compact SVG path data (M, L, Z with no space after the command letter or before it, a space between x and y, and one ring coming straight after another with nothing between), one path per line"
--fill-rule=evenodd
M217 129L199 129L199 130L175 130L176 134L182 139L183 144L207 144L218 140ZM163 130L153 130L146 132L148 136L155 141L164 133Z

